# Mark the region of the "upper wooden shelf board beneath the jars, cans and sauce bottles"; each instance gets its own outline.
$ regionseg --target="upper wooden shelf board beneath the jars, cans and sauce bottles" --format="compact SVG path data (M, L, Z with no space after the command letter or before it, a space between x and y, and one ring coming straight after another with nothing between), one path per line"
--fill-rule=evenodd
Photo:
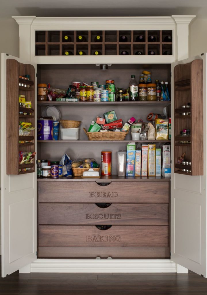
M97 106L97 105L137 105L137 106L169 106L171 101L37 101L39 106L68 106L68 105L85 105L85 106Z

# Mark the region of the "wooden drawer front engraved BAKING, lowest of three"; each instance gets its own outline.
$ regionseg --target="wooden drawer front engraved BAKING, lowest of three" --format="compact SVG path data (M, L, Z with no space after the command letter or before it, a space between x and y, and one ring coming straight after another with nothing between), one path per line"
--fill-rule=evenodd
M39 247L168 247L167 225L40 225Z

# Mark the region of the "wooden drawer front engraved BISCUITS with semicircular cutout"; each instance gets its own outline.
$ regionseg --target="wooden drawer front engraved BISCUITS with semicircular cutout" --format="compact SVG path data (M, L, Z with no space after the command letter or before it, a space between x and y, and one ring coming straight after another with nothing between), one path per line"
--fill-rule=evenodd
M167 225L168 204L40 203L39 224L136 224Z

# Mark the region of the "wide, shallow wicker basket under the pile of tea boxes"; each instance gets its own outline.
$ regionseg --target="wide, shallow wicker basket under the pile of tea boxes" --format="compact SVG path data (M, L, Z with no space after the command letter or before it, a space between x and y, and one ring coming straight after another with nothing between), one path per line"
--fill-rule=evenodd
M88 137L88 140L125 140L127 132L87 132L85 128L83 128L85 134Z

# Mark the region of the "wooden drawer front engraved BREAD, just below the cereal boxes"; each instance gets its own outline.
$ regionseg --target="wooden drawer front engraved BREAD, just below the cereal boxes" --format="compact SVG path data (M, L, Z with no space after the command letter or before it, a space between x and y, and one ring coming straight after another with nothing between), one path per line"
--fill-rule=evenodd
M100 186L95 181L39 181L43 203L168 203L168 181L112 181Z

